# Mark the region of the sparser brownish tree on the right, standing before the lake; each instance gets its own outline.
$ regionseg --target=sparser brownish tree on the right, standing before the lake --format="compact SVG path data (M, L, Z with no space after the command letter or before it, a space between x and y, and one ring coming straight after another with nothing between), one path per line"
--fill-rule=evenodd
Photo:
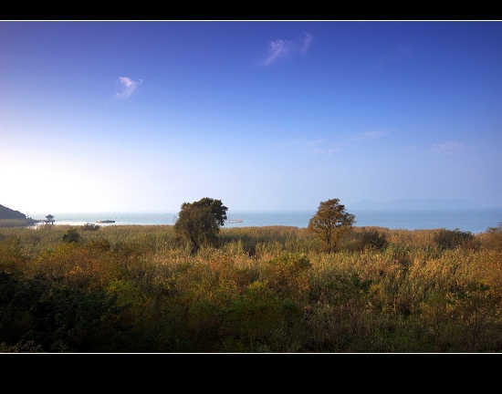
M355 216L345 211L339 199L319 203L318 212L309 220L309 230L318 235L328 253L336 252L340 238L350 231Z

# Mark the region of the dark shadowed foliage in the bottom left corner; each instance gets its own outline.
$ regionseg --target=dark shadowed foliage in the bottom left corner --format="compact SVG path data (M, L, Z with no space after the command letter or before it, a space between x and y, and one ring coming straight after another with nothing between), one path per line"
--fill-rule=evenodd
M120 316L116 297L38 276L17 280L0 273L0 343L16 351L107 352L124 348L131 327ZM127 349L126 349L127 350Z

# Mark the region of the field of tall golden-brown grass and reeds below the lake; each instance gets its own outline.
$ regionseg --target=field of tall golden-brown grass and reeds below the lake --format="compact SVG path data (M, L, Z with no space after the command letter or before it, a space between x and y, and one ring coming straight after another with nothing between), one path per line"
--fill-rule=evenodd
M326 254L240 227L192 254L170 225L3 227L0 349L500 352L500 237L355 227Z

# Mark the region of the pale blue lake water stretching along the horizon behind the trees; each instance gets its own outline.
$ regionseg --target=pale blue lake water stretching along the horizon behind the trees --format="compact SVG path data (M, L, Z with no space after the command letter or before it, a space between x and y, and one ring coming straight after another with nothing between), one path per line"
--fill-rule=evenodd
M459 229L471 233L484 233L488 227L497 227L502 221L502 208L479 209L434 209L434 210L347 210L356 217L356 226L379 226L390 229L424 230L445 228ZM307 227L309 219L316 211L231 211L226 215L229 220L242 220L238 223L225 223L225 228L262 227L286 225ZM33 219L45 219L48 213L28 213ZM97 223L99 220L112 220L115 223L99 225L162 225L176 222L178 213L50 213L54 224L83 225Z

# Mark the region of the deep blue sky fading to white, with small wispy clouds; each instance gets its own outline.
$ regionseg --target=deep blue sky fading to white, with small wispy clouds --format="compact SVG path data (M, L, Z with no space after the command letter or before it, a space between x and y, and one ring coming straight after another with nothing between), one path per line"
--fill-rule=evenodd
M502 207L502 22L0 21L21 213Z

